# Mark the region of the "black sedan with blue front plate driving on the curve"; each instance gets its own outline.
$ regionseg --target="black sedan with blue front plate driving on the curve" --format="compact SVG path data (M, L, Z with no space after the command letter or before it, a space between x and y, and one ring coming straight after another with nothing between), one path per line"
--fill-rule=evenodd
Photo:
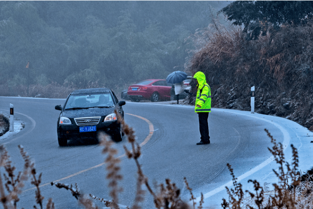
M58 142L66 146L68 139L96 139L98 132L105 132L115 141L122 139L122 130L117 116L116 107L124 117L122 106L113 91L106 88L75 90L68 96L57 122Z

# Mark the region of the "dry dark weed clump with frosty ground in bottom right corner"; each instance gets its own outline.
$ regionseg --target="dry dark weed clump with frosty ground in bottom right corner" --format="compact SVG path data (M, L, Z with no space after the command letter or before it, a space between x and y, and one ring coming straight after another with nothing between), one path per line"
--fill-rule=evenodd
M278 184L273 184L274 190L269 191L260 186L257 180L249 180L248 183L253 183L254 191L243 191L231 165L227 164L235 188L226 187L229 202L223 199L223 209L313 209L313 176L309 174L313 173L313 168L301 176L298 171L297 149L291 144L292 163L290 165L285 159L283 145L277 143L266 129L265 131L273 144L273 147L268 150L278 164L278 171L273 169L278 178ZM249 197L245 198L245 194Z

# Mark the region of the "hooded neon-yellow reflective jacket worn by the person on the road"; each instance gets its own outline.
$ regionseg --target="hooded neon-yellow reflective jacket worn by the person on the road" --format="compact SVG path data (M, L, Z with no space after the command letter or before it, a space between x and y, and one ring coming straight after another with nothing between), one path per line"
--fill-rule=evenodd
M197 97L195 99L194 112L203 113L211 112L211 88L209 84L206 83L205 74L203 72L196 72L193 78L198 81ZM197 107L200 105L201 107Z

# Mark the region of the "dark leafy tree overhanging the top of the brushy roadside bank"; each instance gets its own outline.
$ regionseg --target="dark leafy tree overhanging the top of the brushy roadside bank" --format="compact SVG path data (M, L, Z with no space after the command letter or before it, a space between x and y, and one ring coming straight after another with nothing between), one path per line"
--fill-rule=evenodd
M271 26L299 25L312 19L312 1L234 1L222 8L223 13L234 25L244 26L243 32L251 37L266 34Z

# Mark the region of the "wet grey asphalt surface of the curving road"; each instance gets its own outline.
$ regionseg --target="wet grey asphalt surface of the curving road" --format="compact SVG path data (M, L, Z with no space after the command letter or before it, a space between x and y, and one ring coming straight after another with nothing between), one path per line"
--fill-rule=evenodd
M52 198L57 209L78 209L82 207L69 191L49 183L77 183L82 192L104 199L111 199L110 190L105 178L105 165L101 165L105 159L101 154L102 147L88 141L69 141L67 147L58 146L56 123L60 112L54 106L64 102L64 99L0 97L0 111L9 113L9 104L12 103L14 116L25 123L18 135L0 143L5 144L17 171L22 170L24 164L19 144L34 160L37 173L43 173L41 192L45 197L44 205ZM269 129L278 142L283 140L281 131L266 121L213 109L209 115L211 144L198 146L198 117L191 106L126 101L123 109L126 123L136 131L137 141L144 143L139 161L149 184L156 190L154 185L170 179L181 188L187 201L190 196L184 186L184 177L198 197L201 192L209 192L232 179L227 163L239 176L270 156L267 147L271 144L264 128ZM125 137L114 145L119 150L118 156L124 154L123 145L129 147ZM126 157L120 160L123 180L119 184L123 192L119 194L119 203L131 207L136 193L137 168L135 162ZM35 189L27 183L18 207L33 208L34 197ZM97 205L104 207L101 203ZM146 193L141 206L154 208L151 195Z

